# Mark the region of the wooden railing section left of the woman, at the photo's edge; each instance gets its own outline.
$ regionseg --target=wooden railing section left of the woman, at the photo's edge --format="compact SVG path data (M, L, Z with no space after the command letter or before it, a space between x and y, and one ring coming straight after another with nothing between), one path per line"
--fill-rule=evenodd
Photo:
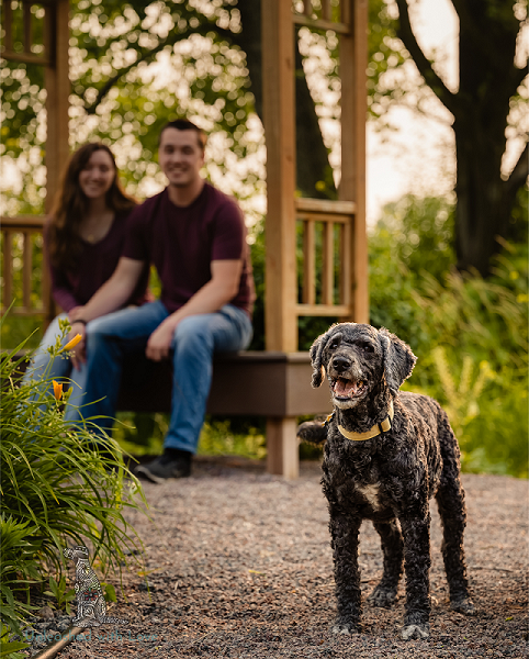
M49 294L49 276L42 254L44 217L26 215L1 217L2 233L2 314L14 301L10 313L43 316L55 313ZM41 253L41 267L35 255Z

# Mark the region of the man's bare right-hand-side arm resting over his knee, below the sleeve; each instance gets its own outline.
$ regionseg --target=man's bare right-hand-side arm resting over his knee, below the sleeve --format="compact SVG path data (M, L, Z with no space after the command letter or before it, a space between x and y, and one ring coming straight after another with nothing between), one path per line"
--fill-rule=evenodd
M235 298L239 289L243 260L214 260L212 278L178 311L166 319L150 335L145 354L154 361L169 355L177 325L190 315L213 313Z

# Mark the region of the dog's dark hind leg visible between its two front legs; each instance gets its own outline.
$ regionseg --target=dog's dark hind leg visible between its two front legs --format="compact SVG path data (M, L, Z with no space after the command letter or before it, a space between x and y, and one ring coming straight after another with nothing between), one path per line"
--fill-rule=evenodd
M397 520L389 523L373 522L381 538L384 554L384 573L380 583L369 595L368 602L373 606L391 606L397 595L398 581L403 573L404 543Z

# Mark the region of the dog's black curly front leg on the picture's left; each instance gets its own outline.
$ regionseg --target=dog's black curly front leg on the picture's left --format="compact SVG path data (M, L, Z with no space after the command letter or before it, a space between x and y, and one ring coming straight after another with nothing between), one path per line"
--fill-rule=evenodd
M360 632L361 592L358 570L358 534L361 520L342 512L330 512L333 559L335 563L338 617L333 634Z

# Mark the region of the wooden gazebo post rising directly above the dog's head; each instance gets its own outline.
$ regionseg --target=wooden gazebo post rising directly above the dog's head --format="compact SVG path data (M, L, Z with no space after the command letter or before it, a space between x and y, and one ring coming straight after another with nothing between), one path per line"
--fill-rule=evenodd
M352 316L369 323L368 238L365 231L365 120L368 66L368 0L342 0L352 31L340 35L341 181L339 199L354 201L351 299Z

